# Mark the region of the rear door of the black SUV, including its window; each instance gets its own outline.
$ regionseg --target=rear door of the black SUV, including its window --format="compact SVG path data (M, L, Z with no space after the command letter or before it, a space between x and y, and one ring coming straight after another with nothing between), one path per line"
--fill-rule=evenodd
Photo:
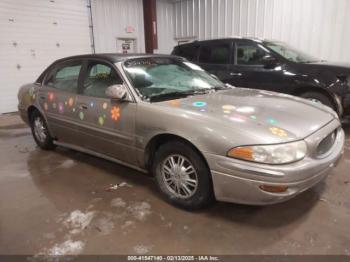
M228 82L230 79L232 49L231 40L202 42L199 50L198 64L222 81Z

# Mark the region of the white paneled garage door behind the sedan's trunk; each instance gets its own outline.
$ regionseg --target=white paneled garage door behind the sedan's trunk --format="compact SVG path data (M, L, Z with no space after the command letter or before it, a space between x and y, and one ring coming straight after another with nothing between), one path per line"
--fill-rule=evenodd
M54 60L90 53L86 0L0 1L0 113Z

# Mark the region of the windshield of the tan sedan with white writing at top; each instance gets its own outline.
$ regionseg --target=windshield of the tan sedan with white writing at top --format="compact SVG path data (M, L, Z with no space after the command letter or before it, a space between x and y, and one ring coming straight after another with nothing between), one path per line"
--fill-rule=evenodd
M124 70L142 99L172 99L227 88L199 66L169 57L127 60Z

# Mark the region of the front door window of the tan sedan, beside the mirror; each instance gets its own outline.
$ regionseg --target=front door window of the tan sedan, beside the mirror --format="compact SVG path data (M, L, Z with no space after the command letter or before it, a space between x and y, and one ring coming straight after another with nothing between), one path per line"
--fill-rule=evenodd
M106 89L109 86L122 83L122 79L111 66L100 62L90 62L84 79L83 94L106 97Z

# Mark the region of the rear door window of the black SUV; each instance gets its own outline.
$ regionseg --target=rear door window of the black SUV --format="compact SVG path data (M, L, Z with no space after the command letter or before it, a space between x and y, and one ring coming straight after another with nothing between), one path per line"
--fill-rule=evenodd
M228 64L230 62L230 45L228 43L202 45L199 62L206 64Z

